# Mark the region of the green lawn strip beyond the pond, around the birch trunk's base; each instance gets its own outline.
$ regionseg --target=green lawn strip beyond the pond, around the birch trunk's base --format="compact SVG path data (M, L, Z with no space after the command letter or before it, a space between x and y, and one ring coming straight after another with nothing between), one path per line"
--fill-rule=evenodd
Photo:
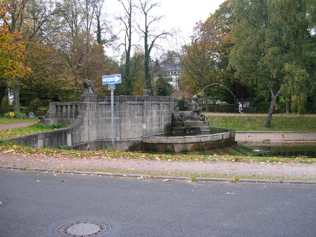
M264 127L266 117L259 116L209 116L211 127L236 131L316 131L316 117L272 116L269 128Z

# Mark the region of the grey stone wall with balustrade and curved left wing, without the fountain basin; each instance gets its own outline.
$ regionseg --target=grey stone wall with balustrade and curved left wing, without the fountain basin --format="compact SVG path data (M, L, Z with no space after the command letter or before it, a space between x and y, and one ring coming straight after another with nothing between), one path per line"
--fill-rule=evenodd
M115 147L142 150L142 135L170 131L171 111L177 104L178 99L172 97L114 96ZM81 102L51 103L40 123L50 126L56 122L71 125L5 140L35 148L43 145L91 150L112 148L111 96L82 94Z

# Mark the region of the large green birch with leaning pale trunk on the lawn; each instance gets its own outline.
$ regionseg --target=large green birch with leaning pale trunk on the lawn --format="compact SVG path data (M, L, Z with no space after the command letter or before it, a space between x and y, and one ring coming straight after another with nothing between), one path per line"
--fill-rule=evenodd
M280 94L292 97L292 109L304 112L315 80L315 36L309 29L304 0L234 1L233 49L230 65L244 83L268 90L272 100L265 123L270 126Z

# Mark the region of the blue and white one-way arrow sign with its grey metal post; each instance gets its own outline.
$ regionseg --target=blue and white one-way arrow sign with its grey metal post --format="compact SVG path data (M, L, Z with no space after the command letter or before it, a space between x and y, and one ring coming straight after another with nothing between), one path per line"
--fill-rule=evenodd
M102 76L102 85L108 85L108 89L111 90L111 123L112 123L112 149L115 149L114 145L114 89L115 84L122 83L121 74L105 75Z

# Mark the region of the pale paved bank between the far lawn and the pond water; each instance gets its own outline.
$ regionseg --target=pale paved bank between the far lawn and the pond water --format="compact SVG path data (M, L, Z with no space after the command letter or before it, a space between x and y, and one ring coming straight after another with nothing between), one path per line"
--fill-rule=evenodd
M235 141L246 143L316 143L316 132L275 131L236 132Z

